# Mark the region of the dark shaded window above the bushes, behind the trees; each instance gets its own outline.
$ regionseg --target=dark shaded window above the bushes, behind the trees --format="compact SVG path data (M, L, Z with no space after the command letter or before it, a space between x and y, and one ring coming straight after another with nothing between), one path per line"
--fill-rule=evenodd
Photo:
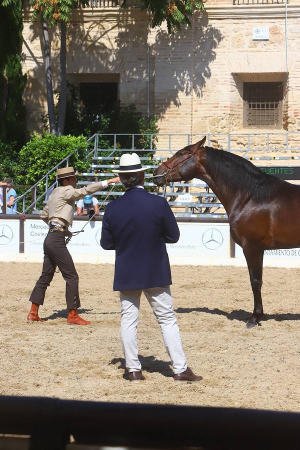
M109 110L117 101L117 83L80 83L80 109L87 114Z

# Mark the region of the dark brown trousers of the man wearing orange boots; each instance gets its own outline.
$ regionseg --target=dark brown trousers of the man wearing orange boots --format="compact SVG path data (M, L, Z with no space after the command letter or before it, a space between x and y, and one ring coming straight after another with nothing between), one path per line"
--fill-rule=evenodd
M63 279L65 280L65 299L68 309L75 309L80 306L78 293L78 274L73 260L65 245L64 232L54 231L45 237L44 260L42 272L31 292L29 301L43 304L46 288L52 281L55 268L58 266Z

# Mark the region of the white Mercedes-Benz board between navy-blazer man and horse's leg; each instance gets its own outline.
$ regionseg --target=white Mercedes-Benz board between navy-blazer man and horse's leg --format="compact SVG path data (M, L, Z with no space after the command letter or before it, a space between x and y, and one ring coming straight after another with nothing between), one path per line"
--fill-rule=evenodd
M180 238L166 244L169 256L219 257L230 256L228 223L178 223Z

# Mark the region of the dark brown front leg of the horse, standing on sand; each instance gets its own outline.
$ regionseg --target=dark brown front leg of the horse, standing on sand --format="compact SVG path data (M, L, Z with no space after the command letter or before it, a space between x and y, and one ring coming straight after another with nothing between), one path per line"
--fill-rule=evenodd
M261 300L263 250L255 248L254 246L244 246L243 253L247 261L254 296L253 314L247 321L246 327L252 328L253 326L258 325L258 319L263 315Z

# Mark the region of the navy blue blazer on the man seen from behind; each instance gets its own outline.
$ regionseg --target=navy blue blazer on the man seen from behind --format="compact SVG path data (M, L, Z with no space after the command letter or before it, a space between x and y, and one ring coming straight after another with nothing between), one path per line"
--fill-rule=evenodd
M179 228L165 198L132 187L108 203L100 245L115 250L113 290L171 284L165 243L178 239Z

